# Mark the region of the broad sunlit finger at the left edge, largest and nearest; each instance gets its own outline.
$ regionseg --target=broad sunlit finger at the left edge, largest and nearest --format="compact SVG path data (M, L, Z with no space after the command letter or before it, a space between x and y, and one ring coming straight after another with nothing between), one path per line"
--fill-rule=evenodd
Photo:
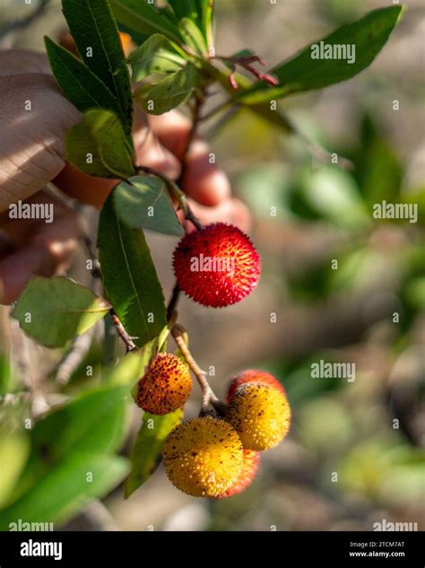
M47 74L0 76L0 100L0 211L5 211L63 169L65 132L81 113Z

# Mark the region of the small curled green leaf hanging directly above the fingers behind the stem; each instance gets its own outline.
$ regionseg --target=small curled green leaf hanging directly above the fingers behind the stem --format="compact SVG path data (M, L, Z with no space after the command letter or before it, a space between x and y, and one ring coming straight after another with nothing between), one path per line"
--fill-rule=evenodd
M160 115L185 102L199 84L200 76L196 67L189 65L169 74L160 83L143 85L134 92L134 96L145 112Z

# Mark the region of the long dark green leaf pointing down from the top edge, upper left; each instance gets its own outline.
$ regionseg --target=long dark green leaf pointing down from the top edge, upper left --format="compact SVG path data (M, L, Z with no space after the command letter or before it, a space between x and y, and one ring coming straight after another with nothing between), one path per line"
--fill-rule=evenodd
M130 75L107 0L62 0L62 10L82 60L119 101L126 134L133 126Z

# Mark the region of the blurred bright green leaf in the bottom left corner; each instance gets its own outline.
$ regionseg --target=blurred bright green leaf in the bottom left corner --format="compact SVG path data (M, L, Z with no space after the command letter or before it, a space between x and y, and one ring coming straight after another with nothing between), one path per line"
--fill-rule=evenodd
M0 513L0 530L8 530L9 523L18 519L64 523L94 499L108 494L127 472L124 458L75 452Z

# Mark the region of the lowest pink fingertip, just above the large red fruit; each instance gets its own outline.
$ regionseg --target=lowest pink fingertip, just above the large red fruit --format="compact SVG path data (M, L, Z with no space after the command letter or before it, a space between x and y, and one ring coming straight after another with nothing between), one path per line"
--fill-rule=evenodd
M192 199L189 199L189 204L204 225L218 222L230 223L244 232L249 232L251 228L251 215L247 205L237 198L226 199L215 207L200 205ZM179 211L178 217L180 222L183 223L183 212Z

